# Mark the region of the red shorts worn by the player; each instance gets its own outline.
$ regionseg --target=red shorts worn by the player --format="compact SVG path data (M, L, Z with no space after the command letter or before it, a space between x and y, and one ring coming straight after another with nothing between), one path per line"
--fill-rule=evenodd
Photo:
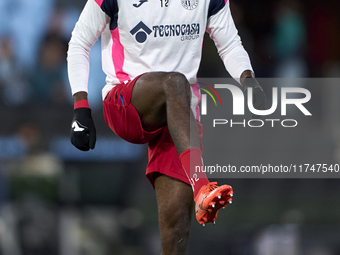
M148 143L149 162L146 177L152 186L154 186L153 173L165 174L190 184L168 127L164 126L152 132L143 129L139 114L130 103L132 89L137 79L138 77L127 84L118 84L107 94L103 102L106 124L117 136L130 143ZM199 122L197 125L202 141L203 127Z

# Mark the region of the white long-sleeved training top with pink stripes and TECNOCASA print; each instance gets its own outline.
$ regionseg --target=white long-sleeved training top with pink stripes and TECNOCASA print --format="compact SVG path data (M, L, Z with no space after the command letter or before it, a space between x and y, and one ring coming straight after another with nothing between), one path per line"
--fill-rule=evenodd
M196 75L205 32L233 78L252 70L228 0L88 0L69 43L72 94L88 91L90 49L102 36L103 98L142 73L177 71L192 84L191 108L199 119Z

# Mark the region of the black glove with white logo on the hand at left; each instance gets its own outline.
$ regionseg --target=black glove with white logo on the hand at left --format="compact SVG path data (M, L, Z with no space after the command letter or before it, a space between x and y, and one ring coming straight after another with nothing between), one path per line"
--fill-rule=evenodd
M71 143L82 151L94 149L96 144L96 127L94 126L91 109L74 109L71 125Z

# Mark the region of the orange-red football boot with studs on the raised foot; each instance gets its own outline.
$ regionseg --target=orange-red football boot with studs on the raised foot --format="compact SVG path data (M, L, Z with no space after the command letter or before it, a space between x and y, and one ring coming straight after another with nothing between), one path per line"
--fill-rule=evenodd
M233 189L229 185L217 186L217 182L204 185L195 198L196 219L203 227L205 223L215 224L218 210L232 203Z

